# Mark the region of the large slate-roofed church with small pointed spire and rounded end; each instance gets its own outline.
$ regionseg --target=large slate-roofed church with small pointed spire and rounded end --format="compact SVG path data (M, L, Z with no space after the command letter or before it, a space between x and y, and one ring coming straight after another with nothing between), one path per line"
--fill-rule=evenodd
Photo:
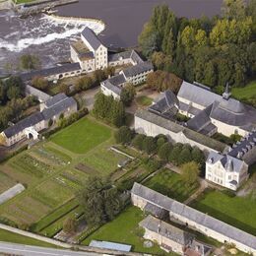
M192 118L187 125L197 132L245 136L256 128L256 109L230 96L228 84L219 96L205 86L183 81L177 95L179 112Z

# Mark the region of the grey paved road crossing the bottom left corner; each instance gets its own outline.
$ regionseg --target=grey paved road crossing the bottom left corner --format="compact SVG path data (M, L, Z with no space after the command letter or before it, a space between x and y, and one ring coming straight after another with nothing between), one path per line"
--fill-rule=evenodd
M16 243L0 242L0 253L22 256L96 256L94 252L77 252L62 249L51 249L38 246L30 246Z

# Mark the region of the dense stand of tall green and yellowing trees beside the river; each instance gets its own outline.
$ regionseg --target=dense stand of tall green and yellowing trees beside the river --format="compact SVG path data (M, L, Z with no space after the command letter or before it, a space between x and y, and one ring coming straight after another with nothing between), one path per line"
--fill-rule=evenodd
M142 53L158 69L217 92L242 87L256 72L256 0L224 0L222 16L177 18L168 6L154 9L139 36Z

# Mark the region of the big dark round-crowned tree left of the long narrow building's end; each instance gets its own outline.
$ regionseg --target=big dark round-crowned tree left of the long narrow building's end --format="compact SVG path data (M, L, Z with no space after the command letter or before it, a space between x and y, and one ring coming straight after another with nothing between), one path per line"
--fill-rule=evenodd
M111 221L122 209L119 193L109 180L90 176L79 195L88 224Z

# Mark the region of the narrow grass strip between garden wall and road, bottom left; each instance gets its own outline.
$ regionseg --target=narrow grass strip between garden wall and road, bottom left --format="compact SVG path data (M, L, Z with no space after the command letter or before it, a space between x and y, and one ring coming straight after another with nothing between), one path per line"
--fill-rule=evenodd
M34 246L57 248L57 246L54 244L39 241L39 240L33 239L31 237L27 237L27 236L17 234L14 232L10 232L7 230L3 230L3 229L0 229L0 240L4 241L4 242L21 243L21 244L34 245Z

